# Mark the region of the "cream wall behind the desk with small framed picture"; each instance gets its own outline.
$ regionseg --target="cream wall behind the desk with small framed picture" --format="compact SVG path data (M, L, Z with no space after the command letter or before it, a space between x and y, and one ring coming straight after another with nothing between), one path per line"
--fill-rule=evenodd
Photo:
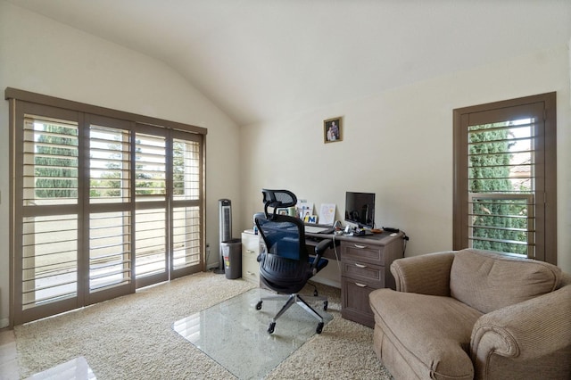
M452 110L557 92L559 266L571 273L571 112L566 45L451 73L365 99L242 128L243 227L261 188L288 188L344 212L345 191L377 194L377 226L410 235L407 256L452 246ZM343 142L323 120L343 116Z

